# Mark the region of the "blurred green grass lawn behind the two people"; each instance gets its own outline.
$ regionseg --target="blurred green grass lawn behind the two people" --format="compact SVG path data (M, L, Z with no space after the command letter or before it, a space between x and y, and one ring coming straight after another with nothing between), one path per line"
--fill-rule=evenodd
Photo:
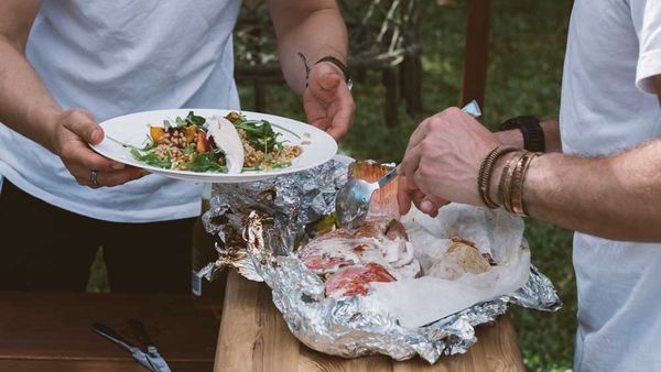
M365 79L355 79L356 120L340 144L342 153L399 162L419 122L458 103L468 1L442 7L437 1L420 0L420 7L424 112L410 117L401 106L399 125L387 128L381 76L369 72ZM571 1L501 0L492 1L491 7L483 122L495 128L518 114L556 118ZM251 86L239 88L243 107L253 109ZM284 86L269 86L267 101L270 113L305 119L300 97ZM529 219L525 236L533 262L553 281L564 307L552 314L513 308L519 347L529 371L567 370L576 329L571 233Z

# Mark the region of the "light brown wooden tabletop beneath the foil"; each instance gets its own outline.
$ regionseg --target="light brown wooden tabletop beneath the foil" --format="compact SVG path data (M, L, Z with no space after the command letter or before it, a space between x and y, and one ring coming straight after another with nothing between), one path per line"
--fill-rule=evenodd
M465 354L442 357L434 365L420 358L394 362L387 357L343 359L311 350L289 331L262 283L230 272L214 371L524 371L509 316L477 328L478 342Z

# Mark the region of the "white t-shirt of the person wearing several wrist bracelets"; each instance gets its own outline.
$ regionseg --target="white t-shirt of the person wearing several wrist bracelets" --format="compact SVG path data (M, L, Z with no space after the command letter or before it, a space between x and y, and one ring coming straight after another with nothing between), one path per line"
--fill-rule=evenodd
M564 152L613 154L661 136L650 84L659 74L661 1L576 0L562 86ZM574 269L574 370L661 371L661 244L576 233Z

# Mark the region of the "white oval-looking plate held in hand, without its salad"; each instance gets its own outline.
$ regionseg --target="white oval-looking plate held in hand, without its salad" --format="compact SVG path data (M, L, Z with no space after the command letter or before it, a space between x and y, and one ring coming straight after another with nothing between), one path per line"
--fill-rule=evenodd
M301 172L329 161L337 152L337 143L335 140L326 132L315 127L288 118L250 111L239 112L246 116L246 118L249 120L268 120L277 125L296 133L300 136L299 139L292 133L273 127L275 132L282 133L279 139L289 140L288 144L301 145L303 147L303 153L301 156L292 161L292 166L270 171L248 171L240 174L163 169L137 161L133 158L133 156L131 156L131 153L128 149L108 139L109 136L121 143L142 147L149 134L148 124L160 127L162 125L163 120L173 120L176 117L185 118L188 114L188 111L195 111L196 116L209 118L218 114L226 116L228 112L235 110L177 109L144 111L123 117L117 117L100 123L107 136L104 138L101 143L98 145L93 145L91 147L99 154L113 161L148 169L151 173L178 179L213 183L242 183L270 178L288 173Z

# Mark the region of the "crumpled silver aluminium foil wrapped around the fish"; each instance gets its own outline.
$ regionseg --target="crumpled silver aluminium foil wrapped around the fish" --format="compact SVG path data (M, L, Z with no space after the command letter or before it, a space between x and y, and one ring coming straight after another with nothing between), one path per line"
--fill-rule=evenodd
M231 266L271 287L273 304L292 333L321 352L342 357L387 354L430 363L462 353L476 342L475 326L495 320L509 303L539 310L561 306L551 281L531 265L528 283L514 293L480 303L430 325L409 329L384 314L370 296L324 296L324 283L292 254L304 243L305 227L335 209L347 178L347 161L247 184L214 186L205 228L217 239L219 258L203 269L210 278Z

